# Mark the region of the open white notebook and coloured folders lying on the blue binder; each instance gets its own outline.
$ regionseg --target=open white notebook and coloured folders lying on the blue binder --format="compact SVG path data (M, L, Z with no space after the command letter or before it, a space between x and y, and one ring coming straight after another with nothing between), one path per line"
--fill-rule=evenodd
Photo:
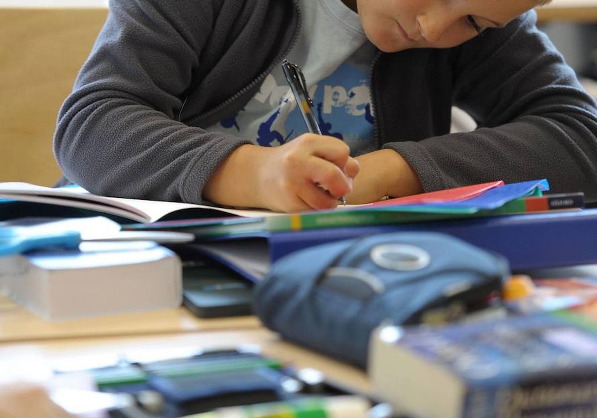
M62 217L103 214L123 223L147 224L136 229L193 228L197 235L219 235L234 233L236 229L242 232L251 222L240 218L253 219L262 230L300 230L527 213L578 208L584 204L583 193L543 196L547 190L546 180L509 185L500 181L288 215L267 210L97 196L76 186L54 189L29 183L0 183L0 198L4 198L0 201L0 220L48 213ZM184 222L159 223L167 220ZM223 228L212 228L217 226Z

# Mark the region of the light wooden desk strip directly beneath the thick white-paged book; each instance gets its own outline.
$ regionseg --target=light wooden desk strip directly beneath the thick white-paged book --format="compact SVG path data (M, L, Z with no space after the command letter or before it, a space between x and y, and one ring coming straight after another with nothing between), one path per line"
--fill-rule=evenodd
M47 322L0 296L0 343L78 337L190 333L261 327L254 316L200 319L185 308Z

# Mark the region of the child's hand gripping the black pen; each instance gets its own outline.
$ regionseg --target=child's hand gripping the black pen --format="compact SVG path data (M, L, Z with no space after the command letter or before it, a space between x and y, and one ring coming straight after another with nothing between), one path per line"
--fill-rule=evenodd
M336 207L338 198L352 192L359 172L346 143L316 134L264 148L256 164L264 206L283 212Z

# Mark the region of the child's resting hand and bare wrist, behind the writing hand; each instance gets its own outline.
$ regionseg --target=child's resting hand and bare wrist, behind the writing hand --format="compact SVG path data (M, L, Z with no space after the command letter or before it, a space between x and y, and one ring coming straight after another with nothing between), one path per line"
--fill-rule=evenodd
M383 196L401 197L423 193L423 186L408 162L392 149L380 149L356 157L361 170L353 192L346 196L350 204L376 202Z

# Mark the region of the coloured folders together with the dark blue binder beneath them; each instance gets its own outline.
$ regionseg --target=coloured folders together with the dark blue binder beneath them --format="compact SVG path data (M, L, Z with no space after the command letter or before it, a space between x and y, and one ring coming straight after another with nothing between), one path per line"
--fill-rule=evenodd
M156 222L125 229L191 232L199 241L196 250L254 281L294 251L398 231L448 233L506 256L513 269L597 262L590 244L597 212L578 210L582 193L543 195L548 187L544 180L485 183L331 211Z

